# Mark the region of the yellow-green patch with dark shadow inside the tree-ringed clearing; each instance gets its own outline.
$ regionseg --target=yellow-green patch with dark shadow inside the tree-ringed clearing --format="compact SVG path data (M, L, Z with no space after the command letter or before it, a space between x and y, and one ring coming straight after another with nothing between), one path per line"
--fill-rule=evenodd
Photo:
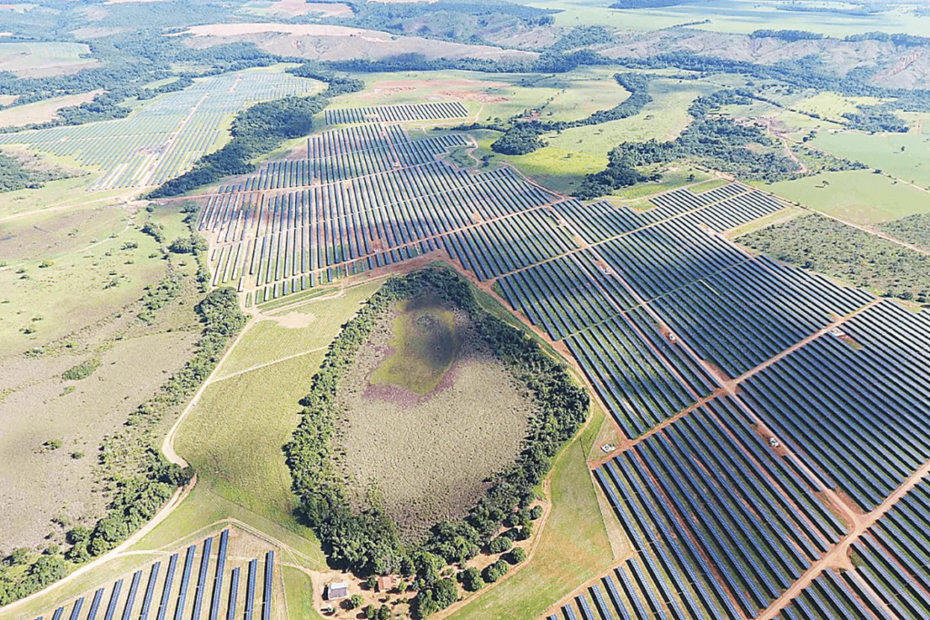
M397 304L389 355L372 372L372 385L395 385L429 394L445 376L458 351L455 318L435 296Z

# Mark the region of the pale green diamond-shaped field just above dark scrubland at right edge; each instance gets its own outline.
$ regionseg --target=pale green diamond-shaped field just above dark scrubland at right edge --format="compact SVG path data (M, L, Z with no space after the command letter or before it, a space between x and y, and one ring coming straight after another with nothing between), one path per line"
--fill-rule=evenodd
M829 185L824 186L824 181ZM868 170L779 181L763 189L857 224L878 224L930 211L930 194Z

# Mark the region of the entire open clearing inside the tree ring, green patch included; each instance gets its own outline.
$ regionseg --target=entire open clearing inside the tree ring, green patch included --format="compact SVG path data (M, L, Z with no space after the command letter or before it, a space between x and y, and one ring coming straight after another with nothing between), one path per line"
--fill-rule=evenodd
M464 517L519 453L525 391L467 312L435 294L395 302L339 385L352 504L377 488L403 541Z

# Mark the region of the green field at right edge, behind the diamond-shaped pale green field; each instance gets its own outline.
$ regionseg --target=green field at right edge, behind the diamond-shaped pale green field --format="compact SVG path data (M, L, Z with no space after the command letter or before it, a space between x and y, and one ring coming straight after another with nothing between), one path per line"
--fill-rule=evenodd
M875 135L821 132L814 146L930 188L930 136L913 132Z

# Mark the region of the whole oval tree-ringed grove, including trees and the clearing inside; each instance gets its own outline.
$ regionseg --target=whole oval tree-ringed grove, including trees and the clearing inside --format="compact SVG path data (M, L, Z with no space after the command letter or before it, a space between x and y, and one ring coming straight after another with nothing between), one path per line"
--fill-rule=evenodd
M429 268L388 280L343 326L301 404L287 466L330 561L419 574L473 558L530 506L589 397L455 271Z

